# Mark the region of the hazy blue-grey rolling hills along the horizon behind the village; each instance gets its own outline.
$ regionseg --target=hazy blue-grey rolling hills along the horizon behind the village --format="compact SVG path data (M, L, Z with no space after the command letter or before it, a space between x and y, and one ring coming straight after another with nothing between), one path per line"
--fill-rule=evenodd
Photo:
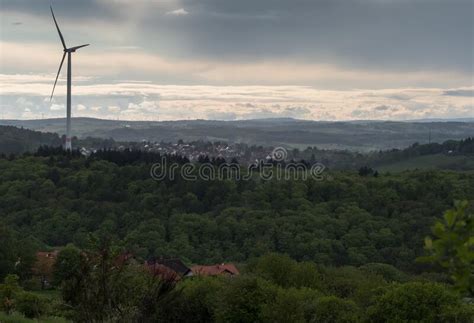
M65 132L64 119L0 120L0 125L21 126L42 132ZM431 133L431 136L430 136ZM117 141L208 140L264 146L371 151L404 148L414 142L443 142L474 136L474 122L322 122L295 119L240 121L115 121L74 118L73 135L113 138Z

